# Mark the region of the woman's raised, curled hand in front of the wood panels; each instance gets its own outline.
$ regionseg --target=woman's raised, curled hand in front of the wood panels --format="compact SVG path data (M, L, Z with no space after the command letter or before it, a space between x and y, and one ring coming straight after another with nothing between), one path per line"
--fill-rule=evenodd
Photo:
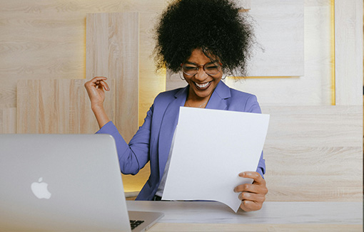
M105 77L96 77L85 83L85 88L91 100L91 107L100 107L103 105L103 100L105 100L104 90L110 90L106 80L107 78Z

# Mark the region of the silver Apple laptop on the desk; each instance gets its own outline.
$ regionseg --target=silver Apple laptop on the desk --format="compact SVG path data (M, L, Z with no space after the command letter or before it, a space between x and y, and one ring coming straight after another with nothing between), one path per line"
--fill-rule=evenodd
M145 231L129 212L110 135L0 135L0 231Z

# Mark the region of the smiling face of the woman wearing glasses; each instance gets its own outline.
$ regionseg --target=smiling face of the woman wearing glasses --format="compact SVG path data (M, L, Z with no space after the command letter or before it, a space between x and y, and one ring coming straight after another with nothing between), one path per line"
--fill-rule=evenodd
M188 66L201 65L195 75L183 73L183 77L186 79L188 85L190 85L188 97L193 100L208 100L223 76L221 67L218 68L216 74L208 75L202 67L202 65L208 63L211 63L210 58L205 56L201 49L198 48L192 51L190 58L185 62Z

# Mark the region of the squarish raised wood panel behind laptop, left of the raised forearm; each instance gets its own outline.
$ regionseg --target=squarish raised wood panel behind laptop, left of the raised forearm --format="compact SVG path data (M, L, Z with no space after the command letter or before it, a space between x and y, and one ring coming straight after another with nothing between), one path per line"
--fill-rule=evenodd
M98 125L91 111L85 80L19 80L17 133L94 133ZM111 83L113 81L111 80ZM105 109L113 119L113 91Z

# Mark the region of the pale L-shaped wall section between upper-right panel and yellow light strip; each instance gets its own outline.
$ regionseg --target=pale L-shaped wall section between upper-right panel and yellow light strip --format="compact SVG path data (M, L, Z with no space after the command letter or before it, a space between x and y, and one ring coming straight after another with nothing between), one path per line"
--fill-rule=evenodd
M305 1L305 75L302 77L226 78L231 88L257 95L261 105L331 105L331 1Z

